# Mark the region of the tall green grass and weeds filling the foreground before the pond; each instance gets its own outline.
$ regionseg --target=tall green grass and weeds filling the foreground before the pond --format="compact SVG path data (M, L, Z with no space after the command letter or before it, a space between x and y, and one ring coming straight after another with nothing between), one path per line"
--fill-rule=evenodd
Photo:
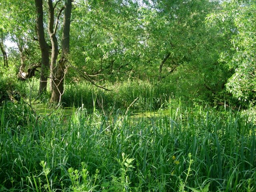
M83 106L68 118L23 110L29 118L17 125L8 108L0 113L1 191L255 191L255 125L231 109L170 104L168 114L135 121Z

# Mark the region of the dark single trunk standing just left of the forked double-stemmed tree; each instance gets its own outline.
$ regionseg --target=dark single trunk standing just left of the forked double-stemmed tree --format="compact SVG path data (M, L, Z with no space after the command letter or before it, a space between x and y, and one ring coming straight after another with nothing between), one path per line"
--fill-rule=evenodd
M38 94L46 92L47 88L47 76L49 71L49 46L46 43L44 37L44 21L43 21L43 2L42 0L35 0L36 4L36 30L38 35L38 42L41 49L42 64L41 64L41 73L40 73L40 84Z

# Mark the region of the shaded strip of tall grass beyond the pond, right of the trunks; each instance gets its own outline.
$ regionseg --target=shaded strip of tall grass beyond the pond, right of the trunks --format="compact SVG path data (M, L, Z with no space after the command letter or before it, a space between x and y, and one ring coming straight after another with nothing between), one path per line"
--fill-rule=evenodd
M146 81L126 81L120 83L107 83L104 86L111 91L98 88L89 82L81 82L75 85L66 85L62 102L64 106L87 108L95 105L99 108L128 108L136 99L132 108L136 110L156 110L173 98L173 88L166 83L152 84Z

